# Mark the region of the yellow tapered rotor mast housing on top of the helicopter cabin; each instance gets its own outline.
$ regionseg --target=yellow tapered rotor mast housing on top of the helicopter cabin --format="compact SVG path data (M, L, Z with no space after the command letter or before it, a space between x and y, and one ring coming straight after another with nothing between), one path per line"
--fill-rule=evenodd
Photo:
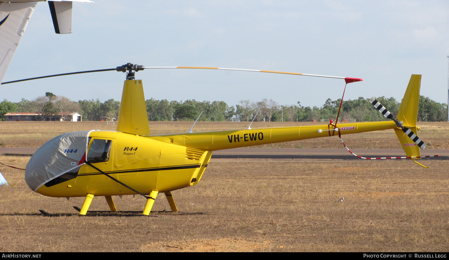
M150 135L142 80L125 80L117 131L139 136Z

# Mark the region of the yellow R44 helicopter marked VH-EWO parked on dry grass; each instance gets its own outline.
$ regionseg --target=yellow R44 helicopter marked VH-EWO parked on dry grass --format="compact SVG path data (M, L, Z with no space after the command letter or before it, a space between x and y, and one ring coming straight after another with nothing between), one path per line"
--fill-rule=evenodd
M424 149L426 146L416 136L421 75L411 76L396 119L379 101L374 97L371 99L371 103L392 121L337 124L337 116L335 123L330 122L323 125L261 129L248 127L233 131L189 131L180 134L151 136L142 80L135 79L135 72L144 69L173 68L307 75L344 79L346 84L362 80L231 68L145 67L131 63L114 69L31 78L39 79L98 71L127 72L127 79L123 85L117 131L69 132L54 137L42 145L26 165L25 180L28 186L35 192L50 197L85 197L83 206L79 209L80 215L85 215L88 212L94 196L104 196L110 211L117 212L112 196L140 194L146 198L142 214L149 215L159 193L166 195L172 212L177 212L172 191L198 184L211 159L212 151L216 150L385 129L395 130L407 155L407 157L401 158L420 159L419 149ZM46 214L44 211L41 212Z

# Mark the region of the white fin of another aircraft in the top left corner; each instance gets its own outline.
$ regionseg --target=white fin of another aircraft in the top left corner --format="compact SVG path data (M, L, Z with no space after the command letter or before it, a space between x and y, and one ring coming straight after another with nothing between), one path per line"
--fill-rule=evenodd
M36 4L0 3L0 82L3 81Z

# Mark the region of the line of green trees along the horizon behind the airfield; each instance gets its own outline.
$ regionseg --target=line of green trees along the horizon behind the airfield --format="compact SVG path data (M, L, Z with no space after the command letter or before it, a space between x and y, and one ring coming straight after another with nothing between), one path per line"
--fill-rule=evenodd
M397 115L401 103L395 98L379 97L393 115ZM224 101L168 101L154 98L145 101L149 121L327 121L336 119L341 99L332 101L330 98L318 106L301 106L298 101L294 105L280 105L272 99L262 101L241 100L238 105L228 106ZM59 114L63 118L77 112L84 121L100 121L104 118L116 118L119 115L120 102L114 99L101 102L100 100L71 101L67 97L56 96L47 92L45 96L32 101L22 99L13 103L6 99L0 102L0 121L9 112L34 112L39 116L33 120L44 120L50 115ZM428 97L420 96L418 107L418 121L446 121L448 107L445 103L438 103ZM346 119L357 122L386 120L370 103L369 98L359 97L355 100L343 101L339 120Z

